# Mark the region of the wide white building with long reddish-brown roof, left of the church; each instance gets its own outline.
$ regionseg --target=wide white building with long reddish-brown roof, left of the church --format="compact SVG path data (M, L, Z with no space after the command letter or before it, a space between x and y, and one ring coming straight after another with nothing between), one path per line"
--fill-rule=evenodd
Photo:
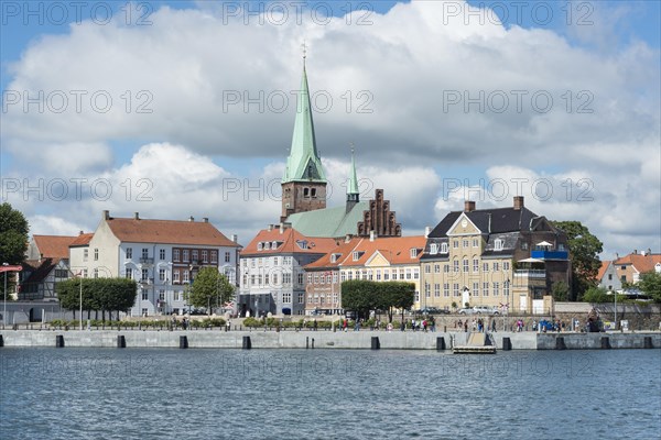
M91 237L71 246L72 271L85 277L138 282L131 316L184 314L184 290L202 267L217 267L236 285L239 245L208 219L195 221L110 217L104 211Z

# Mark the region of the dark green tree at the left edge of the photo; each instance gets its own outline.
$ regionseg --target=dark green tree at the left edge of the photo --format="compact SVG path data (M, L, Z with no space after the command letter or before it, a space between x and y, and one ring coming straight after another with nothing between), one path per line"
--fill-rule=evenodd
M28 250L28 220L10 204L0 205L0 264L21 264ZM7 290L13 292L13 277L7 276ZM4 296L4 279L0 283L0 297Z

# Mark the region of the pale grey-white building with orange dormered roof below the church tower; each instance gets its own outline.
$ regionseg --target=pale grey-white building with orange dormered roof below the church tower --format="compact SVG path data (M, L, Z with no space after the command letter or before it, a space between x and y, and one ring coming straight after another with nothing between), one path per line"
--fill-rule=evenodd
M334 239L306 237L285 223L259 231L240 255L239 315L303 315L303 267L335 246Z

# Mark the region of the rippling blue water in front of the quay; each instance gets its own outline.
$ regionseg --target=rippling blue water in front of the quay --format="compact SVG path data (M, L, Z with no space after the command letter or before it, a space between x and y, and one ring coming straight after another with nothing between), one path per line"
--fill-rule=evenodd
M660 350L0 350L0 439L660 432Z

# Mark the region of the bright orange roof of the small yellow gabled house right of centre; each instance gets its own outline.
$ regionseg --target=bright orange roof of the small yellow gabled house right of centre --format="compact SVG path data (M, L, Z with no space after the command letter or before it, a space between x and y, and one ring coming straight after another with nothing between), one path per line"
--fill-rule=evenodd
M362 239L342 262L342 266L362 266L376 252L379 252L392 265L419 263L426 239L422 235L414 237L384 237L373 241ZM411 249L416 249L416 256L411 258ZM354 261L353 253L359 252L359 258Z

